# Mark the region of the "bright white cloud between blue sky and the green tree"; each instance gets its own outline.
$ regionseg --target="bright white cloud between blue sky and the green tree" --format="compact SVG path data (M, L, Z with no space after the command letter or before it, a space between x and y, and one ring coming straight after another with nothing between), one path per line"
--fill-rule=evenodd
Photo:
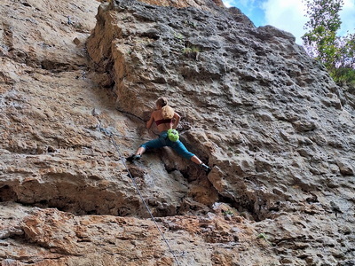
M278 27L296 36L296 43L302 44L304 35L305 5L301 0L266 0L262 5L267 25Z

